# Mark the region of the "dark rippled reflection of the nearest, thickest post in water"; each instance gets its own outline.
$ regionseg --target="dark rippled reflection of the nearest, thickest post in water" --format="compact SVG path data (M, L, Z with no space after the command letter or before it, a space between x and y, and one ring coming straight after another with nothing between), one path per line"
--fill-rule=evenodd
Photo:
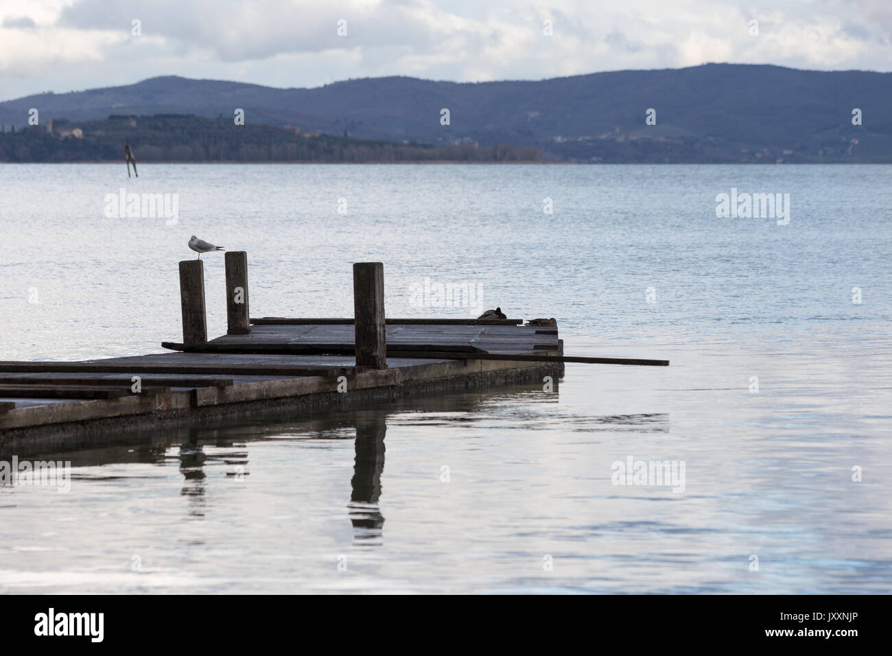
M381 497L386 432L387 416L383 411L367 411L359 414L356 420L356 461L351 479L350 501L351 504L363 505L351 506L349 512L353 527L376 531L359 536L364 539L379 535L381 527L384 526L384 517L377 508L377 502Z

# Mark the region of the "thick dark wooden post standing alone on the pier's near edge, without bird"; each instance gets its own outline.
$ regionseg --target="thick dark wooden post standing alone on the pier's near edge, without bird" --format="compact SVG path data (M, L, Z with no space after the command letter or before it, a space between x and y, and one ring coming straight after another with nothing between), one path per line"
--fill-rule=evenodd
M384 264L353 264L353 320L356 366L387 369L384 332Z

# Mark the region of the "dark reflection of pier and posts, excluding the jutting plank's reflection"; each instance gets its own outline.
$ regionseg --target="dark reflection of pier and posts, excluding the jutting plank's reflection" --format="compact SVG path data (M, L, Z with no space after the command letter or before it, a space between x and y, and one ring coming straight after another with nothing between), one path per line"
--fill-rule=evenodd
M407 396L392 403L371 403L357 410L335 413L283 411L275 423L217 419L204 428L138 431L128 434L124 444L44 453L41 458L70 461L72 478L90 480L116 476L107 476L104 472L98 475L79 473L78 468L121 463L176 463L182 476L179 494L188 501L186 512L190 518L200 519L204 516L207 497L213 492L215 480L235 478L250 482L249 453L252 443L277 441L283 435L299 437L301 441L341 441L344 437L351 437L354 439L354 460L350 500L346 504L347 519L350 519L353 527L354 545L375 546L383 544L384 515L379 502L389 417L408 417L418 412L444 415L473 413L483 408L487 399L493 396L525 397L529 394L542 395L541 385L505 386L486 392ZM548 397L554 403L558 402L558 394L548 394Z

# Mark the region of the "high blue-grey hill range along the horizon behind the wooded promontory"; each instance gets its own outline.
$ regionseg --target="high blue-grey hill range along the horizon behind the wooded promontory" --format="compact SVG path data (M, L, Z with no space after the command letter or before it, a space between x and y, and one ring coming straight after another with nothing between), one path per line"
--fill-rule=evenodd
M0 103L0 124L194 113L394 142L537 145L582 162L892 162L892 73L706 64L540 81L272 88L178 77ZM863 125L851 123L853 108ZM441 125L441 110L450 125ZM648 108L657 125L645 125ZM8 127L7 127L8 129Z

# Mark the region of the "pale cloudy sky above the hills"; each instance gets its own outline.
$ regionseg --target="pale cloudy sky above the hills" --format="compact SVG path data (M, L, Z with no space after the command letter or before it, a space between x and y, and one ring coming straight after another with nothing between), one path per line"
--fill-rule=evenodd
M159 75L318 87L706 62L892 71L892 0L0 0L0 100Z

